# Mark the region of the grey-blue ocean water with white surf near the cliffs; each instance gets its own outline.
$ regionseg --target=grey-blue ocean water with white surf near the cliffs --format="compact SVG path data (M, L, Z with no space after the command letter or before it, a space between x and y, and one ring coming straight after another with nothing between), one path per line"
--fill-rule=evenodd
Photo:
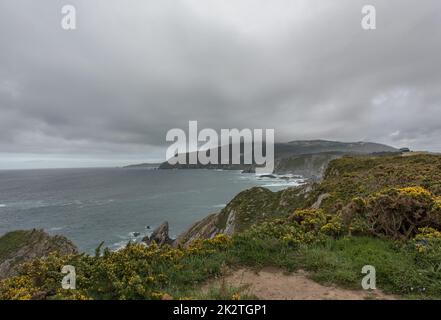
M38 228L65 235L88 253L101 241L118 249L163 221L169 222L171 236L177 236L250 187L277 191L300 183L296 178L216 170L0 171L0 235Z

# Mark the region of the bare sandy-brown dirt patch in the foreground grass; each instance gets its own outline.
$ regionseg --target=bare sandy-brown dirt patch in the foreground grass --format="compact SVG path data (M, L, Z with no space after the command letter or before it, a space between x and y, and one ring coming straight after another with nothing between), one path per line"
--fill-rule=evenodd
M232 271L223 280L228 286L243 288L243 292L265 300L364 300L396 299L379 290L346 290L320 285L304 271L286 274L283 270L265 268L256 273L249 269Z

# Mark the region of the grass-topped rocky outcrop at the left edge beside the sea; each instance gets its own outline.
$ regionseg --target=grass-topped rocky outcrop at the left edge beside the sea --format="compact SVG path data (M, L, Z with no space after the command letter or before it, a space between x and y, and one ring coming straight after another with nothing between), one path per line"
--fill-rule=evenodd
M77 247L66 237L43 230L13 231L0 237L0 279L16 275L20 264L51 253L75 254Z

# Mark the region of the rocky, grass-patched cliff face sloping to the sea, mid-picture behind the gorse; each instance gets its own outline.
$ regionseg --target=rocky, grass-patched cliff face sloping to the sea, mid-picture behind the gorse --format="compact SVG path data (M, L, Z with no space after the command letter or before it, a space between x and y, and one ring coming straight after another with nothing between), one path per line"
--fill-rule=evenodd
M210 239L217 234L233 235L253 224L285 216L300 208L311 190L309 185L272 192L254 187L239 193L224 209L193 224L174 245L188 246L196 239Z

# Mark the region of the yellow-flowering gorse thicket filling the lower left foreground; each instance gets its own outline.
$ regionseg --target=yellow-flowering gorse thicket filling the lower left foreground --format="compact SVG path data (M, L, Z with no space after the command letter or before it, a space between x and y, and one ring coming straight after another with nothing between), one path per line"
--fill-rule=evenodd
M225 250L231 243L218 235L189 249L129 243L119 251L98 251L95 257L50 255L23 264L18 276L1 281L0 299L162 299L170 277L193 271L185 270L185 259ZM77 290L61 289L65 265L76 268Z

